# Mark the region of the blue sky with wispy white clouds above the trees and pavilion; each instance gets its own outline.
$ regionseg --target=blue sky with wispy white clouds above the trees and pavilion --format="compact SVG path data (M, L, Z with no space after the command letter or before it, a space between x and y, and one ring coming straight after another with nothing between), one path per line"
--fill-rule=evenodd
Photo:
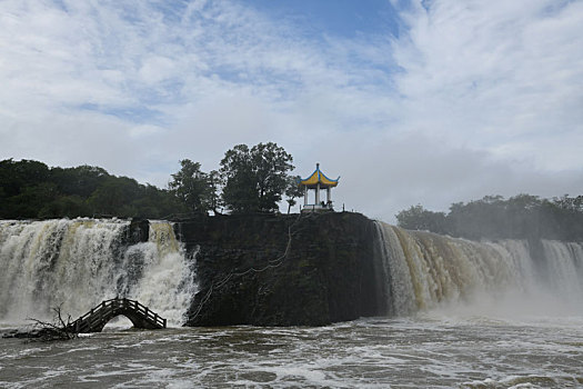
M583 188L583 1L2 0L0 159L165 188L273 141L394 222Z

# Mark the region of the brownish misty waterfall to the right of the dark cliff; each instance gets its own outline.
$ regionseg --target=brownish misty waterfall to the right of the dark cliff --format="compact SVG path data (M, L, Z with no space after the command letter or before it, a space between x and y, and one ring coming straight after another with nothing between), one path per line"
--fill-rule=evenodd
M513 300L541 309L583 306L583 245L543 240L537 263L523 240L475 242L376 221L375 270L383 315Z

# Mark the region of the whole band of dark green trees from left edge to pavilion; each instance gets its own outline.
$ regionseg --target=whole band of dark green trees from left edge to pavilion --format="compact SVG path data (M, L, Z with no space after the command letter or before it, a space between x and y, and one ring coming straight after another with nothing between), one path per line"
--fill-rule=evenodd
M0 161L0 218L174 218L192 215L277 212L299 190L292 156L277 143L237 144L218 170L180 160L168 189L110 174L100 167L50 168L34 160Z

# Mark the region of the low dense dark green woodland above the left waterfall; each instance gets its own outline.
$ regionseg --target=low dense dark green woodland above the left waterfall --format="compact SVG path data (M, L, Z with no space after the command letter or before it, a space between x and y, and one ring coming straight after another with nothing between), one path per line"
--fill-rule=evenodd
M187 208L170 191L115 177L99 167L49 168L0 161L0 218L163 218Z

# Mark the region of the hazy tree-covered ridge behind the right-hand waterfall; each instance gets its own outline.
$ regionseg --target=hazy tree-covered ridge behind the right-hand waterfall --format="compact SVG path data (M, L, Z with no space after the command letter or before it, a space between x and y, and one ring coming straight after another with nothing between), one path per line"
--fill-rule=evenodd
M583 241L583 196L552 199L517 194L509 199L485 196L452 203L449 212L421 205L396 215L400 227L452 237L480 239L555 239Z

